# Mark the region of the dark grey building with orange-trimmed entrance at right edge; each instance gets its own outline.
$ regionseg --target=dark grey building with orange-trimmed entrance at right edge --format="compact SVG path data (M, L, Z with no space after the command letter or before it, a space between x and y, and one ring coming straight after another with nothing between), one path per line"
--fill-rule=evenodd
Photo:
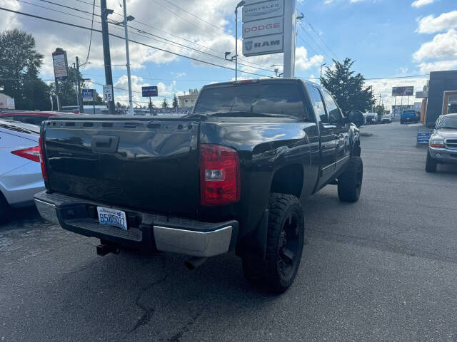
M440 115L456 112L457 70L431 72L428 86L417 92L416 98L423 98L422 102L426 105L425 113L421 115L426 125L433 125Z

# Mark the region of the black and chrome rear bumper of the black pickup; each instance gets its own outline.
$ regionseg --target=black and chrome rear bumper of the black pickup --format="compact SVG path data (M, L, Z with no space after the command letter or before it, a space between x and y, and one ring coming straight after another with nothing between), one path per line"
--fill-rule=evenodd
M44 219L66 230L149 252L214 257L235 249L238 237L234 220L209 223L116 207L127 215L129 229L123 230L99 224L96 207L111 207L109 204L46 192L36 194L35 203Z

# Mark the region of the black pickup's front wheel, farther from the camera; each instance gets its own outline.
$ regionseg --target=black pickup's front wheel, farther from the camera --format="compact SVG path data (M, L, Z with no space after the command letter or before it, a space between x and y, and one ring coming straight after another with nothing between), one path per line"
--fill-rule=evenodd
M353 156L349 161L348 169L338 177L338 198L342 202L357 202L362 189L362 180L362 158Z

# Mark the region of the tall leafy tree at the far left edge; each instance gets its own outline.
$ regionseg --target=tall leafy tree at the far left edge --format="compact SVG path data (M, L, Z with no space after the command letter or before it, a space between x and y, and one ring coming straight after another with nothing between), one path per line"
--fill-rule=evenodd
M43 55L34 37L16 28L0 33L0 88L16 108L49 110L49 86L38 78Z

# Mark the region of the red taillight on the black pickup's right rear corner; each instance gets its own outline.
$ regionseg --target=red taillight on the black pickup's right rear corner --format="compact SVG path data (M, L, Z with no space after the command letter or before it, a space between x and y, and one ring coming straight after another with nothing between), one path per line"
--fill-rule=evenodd
M221 205L238 202L241 193L240 160L233 148L200 147L200 202Z

